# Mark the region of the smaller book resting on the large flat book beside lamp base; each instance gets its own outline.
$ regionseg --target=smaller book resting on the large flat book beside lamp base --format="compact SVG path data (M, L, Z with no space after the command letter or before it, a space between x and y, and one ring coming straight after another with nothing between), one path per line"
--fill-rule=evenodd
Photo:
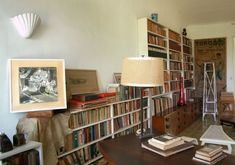
M181 137L175 137L168 134L163 134L160 136L155 136L152 138L152 141L155 143L163 144L163 145L169 145L173 144L174 142L180 141Z

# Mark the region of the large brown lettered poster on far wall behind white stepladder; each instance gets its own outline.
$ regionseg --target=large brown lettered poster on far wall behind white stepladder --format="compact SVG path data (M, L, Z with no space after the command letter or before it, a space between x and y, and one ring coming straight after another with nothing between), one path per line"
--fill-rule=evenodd
M194 41L196 96L202 97L204 63L214 62L217 96L226 91L226 38L197 39Z

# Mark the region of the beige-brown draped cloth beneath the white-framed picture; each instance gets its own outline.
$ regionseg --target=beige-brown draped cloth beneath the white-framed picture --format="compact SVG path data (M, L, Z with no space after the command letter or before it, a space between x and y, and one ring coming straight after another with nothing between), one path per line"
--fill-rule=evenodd
M72 133L68 127L69 113L59 113L52 118L22 118L17 133L24 133L26 141L39 141L43 145L44 165L56 165L57 153L64 152L65 136Z

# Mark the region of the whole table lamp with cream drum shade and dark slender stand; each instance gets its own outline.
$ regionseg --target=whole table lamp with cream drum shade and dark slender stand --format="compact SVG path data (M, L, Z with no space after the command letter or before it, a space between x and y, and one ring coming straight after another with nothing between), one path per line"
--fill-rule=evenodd
M122 66L121 85L140 88L140 138L152 136L152 109L150 94L150 130L144 132L143 123L143 89L161 86L164 84L163 59L156 57L129 57L125 58Z

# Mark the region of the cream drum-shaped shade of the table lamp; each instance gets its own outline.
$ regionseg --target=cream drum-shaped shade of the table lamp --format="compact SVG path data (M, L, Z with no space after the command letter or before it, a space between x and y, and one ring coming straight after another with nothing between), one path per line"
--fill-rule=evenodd
M164 84L163 59L156 57L125 58L121 85L156 87Z

